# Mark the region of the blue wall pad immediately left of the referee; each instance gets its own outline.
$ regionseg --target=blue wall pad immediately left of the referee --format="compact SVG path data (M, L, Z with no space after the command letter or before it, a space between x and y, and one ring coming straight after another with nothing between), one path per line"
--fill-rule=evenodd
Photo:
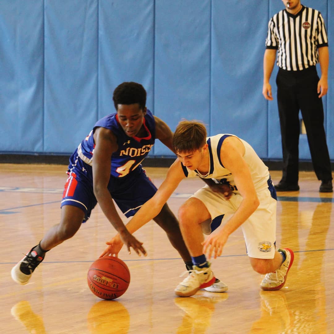
M226 2L213 1L210 130L234 133L265 157L267 103L261 93L268 4L257 3L240 18L243 1L233 3L233 11L226 10Z

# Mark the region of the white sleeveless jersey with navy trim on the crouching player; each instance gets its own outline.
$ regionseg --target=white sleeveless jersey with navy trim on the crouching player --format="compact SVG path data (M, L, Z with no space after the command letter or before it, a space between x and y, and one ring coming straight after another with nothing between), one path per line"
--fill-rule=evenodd
M212 137L207 137L208 152L209 152L209 171L206 175L200 174L197 170L189 170L182 165L183 172L186 177L199 176L205 179L214 179L219 183L229 183L231 189L235 193L239 193L234 182L232 173L226 169L220 159L220 149L225 138L237 136L230 134L219 134ZM238 138L245 147L245 153L243 159L248 165L249 171L251 172L252 180L256 191L261 191L268 188L268 180L270 178L268 167L263 163L259 156L254 151L253 147L246 141Z

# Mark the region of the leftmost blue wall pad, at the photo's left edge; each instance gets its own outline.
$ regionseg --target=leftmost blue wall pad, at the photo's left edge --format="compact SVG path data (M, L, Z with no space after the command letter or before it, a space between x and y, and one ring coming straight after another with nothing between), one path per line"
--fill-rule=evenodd
M43 152L43 1L0 1L1 151Z

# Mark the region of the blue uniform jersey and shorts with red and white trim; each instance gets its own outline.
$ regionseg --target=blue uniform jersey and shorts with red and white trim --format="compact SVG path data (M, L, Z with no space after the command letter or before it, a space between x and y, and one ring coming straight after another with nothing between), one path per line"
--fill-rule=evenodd
M111 177L108 190L122 212L130 217L148 201L157 188L142 168L141 162L150 152L155 141L155 120L147 110L143 120L147 136L128 137L120 126L116 114L100 119L90 134L82 140L70 156L68 179L61 206L73 205L85 212L86 221L97 204L93 190L93 133L97 127L110 129L117 138L118 150L111 156Z

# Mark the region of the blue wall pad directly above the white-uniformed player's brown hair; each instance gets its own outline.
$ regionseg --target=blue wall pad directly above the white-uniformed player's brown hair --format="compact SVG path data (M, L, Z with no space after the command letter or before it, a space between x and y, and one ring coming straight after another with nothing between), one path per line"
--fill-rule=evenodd
M209 125L210 1L156 1L154 55L155 115L172 131L182 118ZM170 155L160 142L155 153Z

